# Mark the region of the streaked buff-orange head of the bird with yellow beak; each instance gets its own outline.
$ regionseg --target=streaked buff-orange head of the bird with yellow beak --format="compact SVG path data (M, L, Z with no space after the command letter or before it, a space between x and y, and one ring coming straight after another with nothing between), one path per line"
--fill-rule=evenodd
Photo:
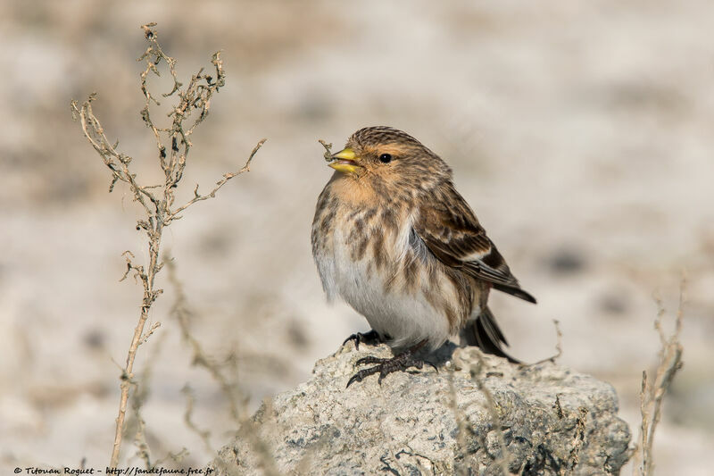
M354 180L394 189L428 190L451 178L438 155L406 132L386 126L360 129L328 163Z

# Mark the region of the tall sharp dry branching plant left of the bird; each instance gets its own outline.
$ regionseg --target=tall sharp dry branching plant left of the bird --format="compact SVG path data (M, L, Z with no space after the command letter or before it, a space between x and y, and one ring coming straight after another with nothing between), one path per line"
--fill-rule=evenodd
M199 70L191 77L187 85L179 81L176 71L176 60L165 54L158 43L156 31L153 29L155 23L148 23L141 28L144 30L145 39L148 46L137 61L145 63L145 69L141 72L141 92L145 97L144 108L141 110L141 117L145 125L151 129L156 140L159 164L164 174L164 180L159 184L145 185L137 178L137 174L131 170L132 157L118 150L119 141L110 142L104 133L104 128L92 111L92 102L96 94L92 93L87 101L81 105L77 101L71 102L71 111L75 119L79 118L85 137L100 155L104 164L112 174L112 182L109 191L117 182L127 184L134 201L145 213L145 218L137 221L137 230L144 230L149 249L148 263L137 264L133 261L134 255L129 252L124 253L127 260L126 278L133 271L136 280L141 281L144 288L144 296L141 302L141 309L137 326L132 335L126 364L120 376L120 405L119 414L116 419L116 431L112 446L112 458L109 466L116 468L119 463L121 439L124 430L124 420L127 413L127 403L129 401L129 390L137 385L134 379L134 360L138 347L146 342L151 334L157 330L158 322L149 330L145 330L145 324L149 318L152 305L158 296L162 294L162 289L155 286L156 275L162 270L163 263L160 260L160 249L162 244L162 232L174 220L182 218L182 213L196 202L206 200L215 196L216 192L222 188L228 180L231 180L245 171L249 171L249 166L253 156L265 142L262 139L248 159L238 171L229 172L223 175L222 180L216 182L215 187L206 195L198 193L198 186L194 189L194 196L183 205L174 205L176 189L183 178L187 165L188 153L193 146L191 136L195 128L205 120L211 107L212 96L225 85L225 72L223 62L220 59L220 52L213 54L212 65L215 72L209 74ZM159 100L149 91L147 79L151 73L160 76L159 66L162 63L168 67L173 87L168 93L162 94L175 100L168 113L169 124L162 127L152 117L154 106L160 105Z

